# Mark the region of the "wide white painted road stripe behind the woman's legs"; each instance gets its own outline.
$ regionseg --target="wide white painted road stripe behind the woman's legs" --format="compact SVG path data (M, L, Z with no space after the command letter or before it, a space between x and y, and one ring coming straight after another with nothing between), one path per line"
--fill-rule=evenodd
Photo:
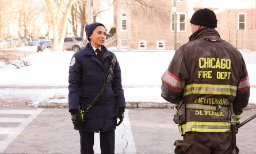
M136 154L133 133L130 127L129 110L124 112L124 119L121 125L116 127L115 131L115 154ZM100 134L95 133L93 150L100 154Z

